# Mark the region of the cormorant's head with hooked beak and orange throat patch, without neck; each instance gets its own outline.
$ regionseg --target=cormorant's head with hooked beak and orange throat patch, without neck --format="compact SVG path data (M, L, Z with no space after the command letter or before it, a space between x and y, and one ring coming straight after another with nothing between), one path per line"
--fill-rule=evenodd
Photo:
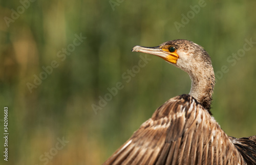
M167 41L155 47L134 46L132 51L159 56L189 75L199 68L211 66L210 56L203 47L185 39Z

